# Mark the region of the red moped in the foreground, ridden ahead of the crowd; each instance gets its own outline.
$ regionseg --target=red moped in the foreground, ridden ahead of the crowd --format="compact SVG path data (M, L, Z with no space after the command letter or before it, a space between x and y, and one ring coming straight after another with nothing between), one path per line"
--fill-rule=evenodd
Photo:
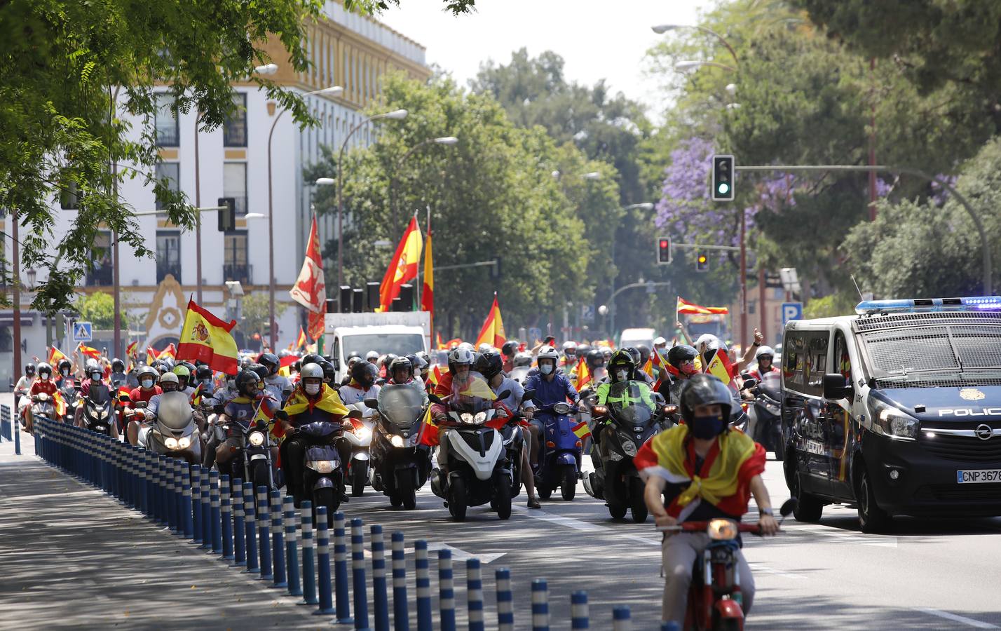
M799 501L790 498L779 509L782 519L791 515ZM710 543L692 566L688 606L685 608L685 631L742 631L744 596L736 554L740 549L738 533L761 535L758 524L741 524L730 519L708 522L682 522L659 527L661 532L705 532Z

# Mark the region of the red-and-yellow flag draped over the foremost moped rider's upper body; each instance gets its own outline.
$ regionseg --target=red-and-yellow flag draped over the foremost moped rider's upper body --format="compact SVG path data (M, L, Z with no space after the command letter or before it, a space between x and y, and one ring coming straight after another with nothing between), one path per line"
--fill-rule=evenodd
M765 452L761 446L743 432L737 430L724 432L717 437L719 453L713 458L713 452L716 450L714 447L713 451L707 454L706 460L712 459L712 463L708 475L703 478L699 475L701 472L694 471L692 459L689 458L690 447L686 441L688 435L688 426L677 425L651 440L657 464L667 470L670 478L675 481L691 480L691 484L682 491L673 504L684 507L696 498L702 498L722 510L727 510L731 509L733 500L737 500L737 505L741 504L739 498L735 496L743 490L741 495L745 496L743 500L745 508L739 514L746 512L748 484L751 478L764 470ZM729 510L727 512L730 513Z

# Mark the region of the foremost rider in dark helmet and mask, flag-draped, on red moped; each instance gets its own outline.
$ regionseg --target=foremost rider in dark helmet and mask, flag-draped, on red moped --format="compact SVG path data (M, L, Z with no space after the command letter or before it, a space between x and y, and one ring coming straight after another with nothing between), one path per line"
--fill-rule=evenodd
M740 521L753 494L762 533L772 535L779 530L761 479L765 450L743 432L730 429L732 405L733 395L723 382L711 375L696 375L681 392L685 425L658 434L640 449L635 463L647 480L644 499L658 526L716 518ZM692 566L709 542L705 532L667 533L661 548L667 577L662 620L685 619ZM747 615L755 586L740 551L737 571Z

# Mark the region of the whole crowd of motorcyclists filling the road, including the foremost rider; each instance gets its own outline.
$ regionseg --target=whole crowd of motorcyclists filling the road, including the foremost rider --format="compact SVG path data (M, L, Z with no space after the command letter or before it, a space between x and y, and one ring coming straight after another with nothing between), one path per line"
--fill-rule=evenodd
M729 379L706 374L720 354ZM653 513L662 528L739 521L753 493L760 530L772 534L777 525L758 476L764 450L743 431L745 410L760 409L756 438L781 458L771 433L779 422L768 407L777 395L754 388L775 383L774 360L757 331L740 358L713 336L619 350L575 342L558 348L553 338L531 348L460 343L399 357L373 350L348 358L339 380L330 359L289 351L241 356L232 375L169 358L126 368L101 357L82 366L67 359L55 368L28 364L15 394L27 432L39 415L74 423L231 479L285 486L296 506L309 499L335 509L349 491L360 495L370 485L393 507L413 508L429 480L454 519L486 503L507 519L522 485L528 507L539 509L540 498L557 489L573 499L584 480L612 517L632 511L644 522ZM759 408L761 397L767 401ZM740 475L719 467L721 450L737 450L753 465ZM684 617L690 557L708 544L704 534L684 535L666 537L666 620L679 611ZM748 610L753 581L737 555Z

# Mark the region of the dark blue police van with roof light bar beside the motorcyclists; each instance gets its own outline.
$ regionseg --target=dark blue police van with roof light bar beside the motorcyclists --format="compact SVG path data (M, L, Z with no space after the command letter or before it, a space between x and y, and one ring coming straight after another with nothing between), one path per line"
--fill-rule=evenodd
M796 519L855 505L1001 515L1001 297L866 300L792 321L782 351L786 483Z

